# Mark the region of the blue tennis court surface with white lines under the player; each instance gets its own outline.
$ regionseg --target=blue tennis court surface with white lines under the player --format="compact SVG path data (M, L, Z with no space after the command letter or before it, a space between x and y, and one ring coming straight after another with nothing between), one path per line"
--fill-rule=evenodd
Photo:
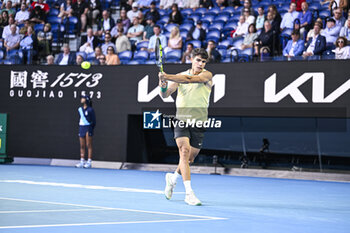
M349 232L350 183L194 174L188 206L164 172L0 165L0 232Z

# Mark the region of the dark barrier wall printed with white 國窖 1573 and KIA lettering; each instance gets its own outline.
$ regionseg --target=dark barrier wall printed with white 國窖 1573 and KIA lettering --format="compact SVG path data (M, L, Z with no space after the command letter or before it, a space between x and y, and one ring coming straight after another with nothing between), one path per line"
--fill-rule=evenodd
M166 65L175 73L188 65ZM349 117L350 61L209 64L211 112L228 116ZM96 160L126 161L128 115L174 107L155 89L152 65L1 66L0 112L8 113L8 154L78 158L81 92L97 115ZM143 122L139 122L142 127Z

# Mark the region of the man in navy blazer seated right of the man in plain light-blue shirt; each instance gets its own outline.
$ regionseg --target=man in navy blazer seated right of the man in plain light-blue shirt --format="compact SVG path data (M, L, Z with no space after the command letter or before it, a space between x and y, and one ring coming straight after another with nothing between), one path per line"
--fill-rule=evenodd
M326 51L326 38L320 34L322 25L315 23L314 35L311 37L306 45L306 51L303 57L307 58L314 55L322 55Z

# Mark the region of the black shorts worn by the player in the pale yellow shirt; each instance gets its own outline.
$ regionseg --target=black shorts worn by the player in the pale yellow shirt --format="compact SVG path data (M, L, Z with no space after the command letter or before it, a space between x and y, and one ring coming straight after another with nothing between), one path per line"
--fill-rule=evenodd
M201 149L204 139L205 128L197 127L174 127L174 139L188 137L190 145L194 148Z

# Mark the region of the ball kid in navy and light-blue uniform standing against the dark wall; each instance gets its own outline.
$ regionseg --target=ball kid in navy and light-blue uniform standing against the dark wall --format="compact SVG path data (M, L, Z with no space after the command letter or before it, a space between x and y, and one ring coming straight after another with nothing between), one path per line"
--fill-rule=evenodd
M96 125L95 111L92 108L92 102L89 96L81 96L80 103L83 105L78 108L80 115L79 121L79 141L80 141L80 163L75 165L78 168L90 168L92 159L92 136ZM88 160L85 162L85 148L88 148Z

